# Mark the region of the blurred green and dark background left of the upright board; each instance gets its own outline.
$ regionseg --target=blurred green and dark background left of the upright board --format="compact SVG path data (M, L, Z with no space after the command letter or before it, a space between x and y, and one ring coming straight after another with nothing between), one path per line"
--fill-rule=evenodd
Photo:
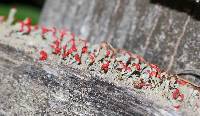
M0 0L0 16L7 16L12 7L17 8L16 21L26 17L37 24L45 0Z

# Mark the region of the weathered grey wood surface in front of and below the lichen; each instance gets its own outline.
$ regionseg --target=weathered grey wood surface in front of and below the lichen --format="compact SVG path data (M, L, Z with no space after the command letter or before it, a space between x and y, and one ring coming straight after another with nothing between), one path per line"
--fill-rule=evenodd
M1 116L177 114L96 75L34 61L12 46L1 43L0 53Z

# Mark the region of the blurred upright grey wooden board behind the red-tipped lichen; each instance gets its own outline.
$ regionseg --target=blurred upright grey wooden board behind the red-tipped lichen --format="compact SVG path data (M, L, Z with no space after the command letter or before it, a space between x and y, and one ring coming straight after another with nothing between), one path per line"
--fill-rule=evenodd
M47 0L40 24L108 41L169 72L199 71L199 12L191 0Z

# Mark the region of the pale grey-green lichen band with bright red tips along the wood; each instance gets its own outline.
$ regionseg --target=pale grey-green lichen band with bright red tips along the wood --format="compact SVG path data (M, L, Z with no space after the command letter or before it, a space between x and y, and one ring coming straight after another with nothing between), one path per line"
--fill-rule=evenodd
M117 86L141 92L149 98L157 97L158 101L165 99L167 106L177 110L189 109L199 113L198 86L176 75L161 72L156 65L146 62L139 55L115 49L106 42L90 45L66 29L33 26L30 18L11 26L15 12L12 9L8 20L0 22L0 31L15 38L24 38L24 45L34 46L31 52L36 55L35 59L56 59L57 63L95 71L103 80Z

